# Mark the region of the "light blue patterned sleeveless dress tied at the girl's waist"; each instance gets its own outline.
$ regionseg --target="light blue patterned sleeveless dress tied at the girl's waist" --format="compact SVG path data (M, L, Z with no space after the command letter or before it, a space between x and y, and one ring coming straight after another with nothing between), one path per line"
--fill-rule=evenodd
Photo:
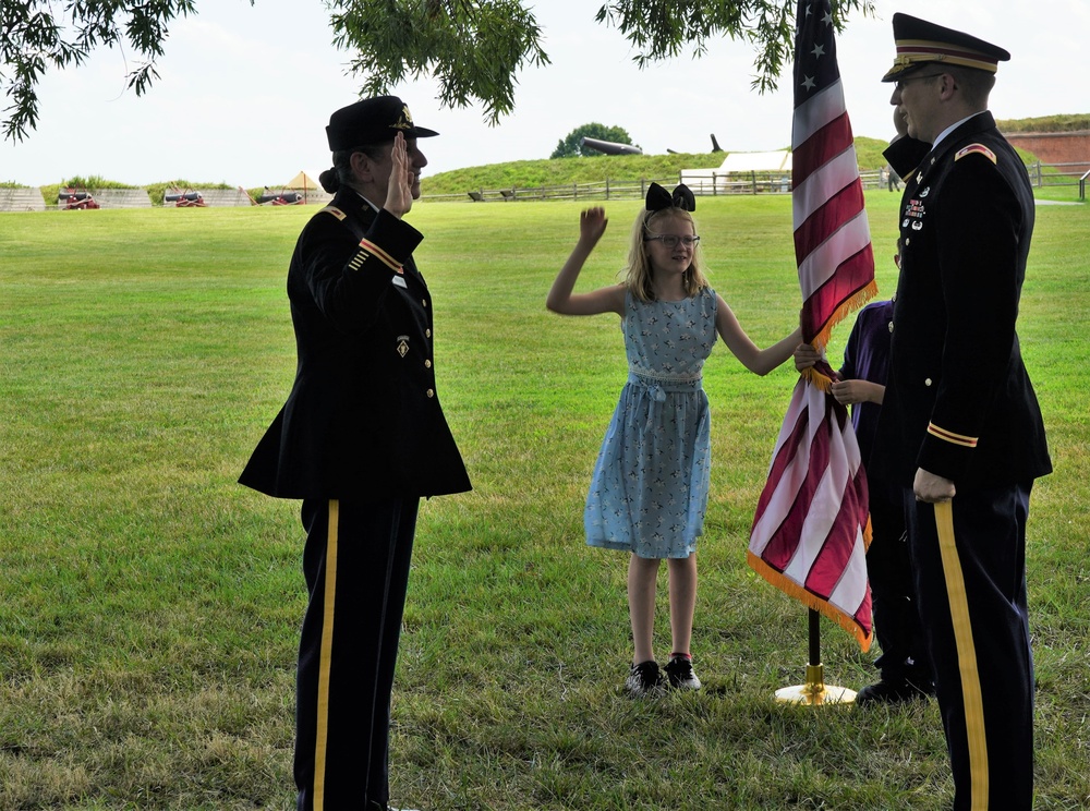
M711 415L701 383L715 343L715 292L683 301L625 296L628 383L598 452L586 543L643 558L685 558L704 531Z

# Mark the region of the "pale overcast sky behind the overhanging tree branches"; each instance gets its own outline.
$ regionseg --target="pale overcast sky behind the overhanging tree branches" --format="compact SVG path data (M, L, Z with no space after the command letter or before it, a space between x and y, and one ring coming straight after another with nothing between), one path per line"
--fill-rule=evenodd
M425 174L547 158L590 122L623 128L649 154L710 152L712 133L731 152L789 144L790 71L778 92L751 90L750 45L724 39L700 60L641 71L620 33L594 22L602 0L532 4L552 64L519 75L514 112L498 126L487 125L480 108L440 108L429 81L393 88L417 124L440 133L422 144ZM197 0L196 8L199 14L171 25L160 77L142 98L125 90L130 68L119 50L51 71L38 89L37 130L0 145L0 181L43 185L98 175L134 185L181 179L254 187L327 168L325 124L355 100L360 82L346 74L349 55L330 44L322 0ZM837 40L857 135L893 134L891 88L879 80L893 63L898 10L1012 52L992 94L997 118L1090 112L1086 0L876 0L875 8L876 19L851 17Z

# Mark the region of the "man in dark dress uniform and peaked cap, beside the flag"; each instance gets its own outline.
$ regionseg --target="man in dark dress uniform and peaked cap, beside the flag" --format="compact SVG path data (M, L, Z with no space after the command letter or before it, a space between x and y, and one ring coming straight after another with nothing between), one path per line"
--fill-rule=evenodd
M1033 194L988 112L1002 48L893 19L908 134L900 280L879 419L880 472L906 488L910 553L956 809L1029 809L1033 665L1026 520L1052 470L1015 322ZM899 143L899 142L898 142Z

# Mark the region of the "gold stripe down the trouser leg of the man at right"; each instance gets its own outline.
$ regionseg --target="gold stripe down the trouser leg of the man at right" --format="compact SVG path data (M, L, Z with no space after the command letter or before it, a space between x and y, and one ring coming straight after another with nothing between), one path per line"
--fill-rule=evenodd
M938 531L938 549L943 556L946 594L954 621L954 642L957 645L958 670L961 675L961 700L965 703L966 737L969 743L970 808L988 809L988 739L984 736L984 700L980 692L980 673L977 668L977 649L972 641L969 619L969 601L965 592L961 560L954 543L954 507L950 501L935 505L935 528Z

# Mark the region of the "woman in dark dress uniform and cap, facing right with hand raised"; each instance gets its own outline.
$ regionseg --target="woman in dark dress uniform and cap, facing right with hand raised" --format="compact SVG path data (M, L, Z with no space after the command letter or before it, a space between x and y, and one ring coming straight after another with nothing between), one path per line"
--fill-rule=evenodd
M390 691L422 496L470 488L435 391L432 299L402 220L426 165L399 98L337 110L332 203L288 270L299 363L240 481L303 500L300 811L387 809Z

